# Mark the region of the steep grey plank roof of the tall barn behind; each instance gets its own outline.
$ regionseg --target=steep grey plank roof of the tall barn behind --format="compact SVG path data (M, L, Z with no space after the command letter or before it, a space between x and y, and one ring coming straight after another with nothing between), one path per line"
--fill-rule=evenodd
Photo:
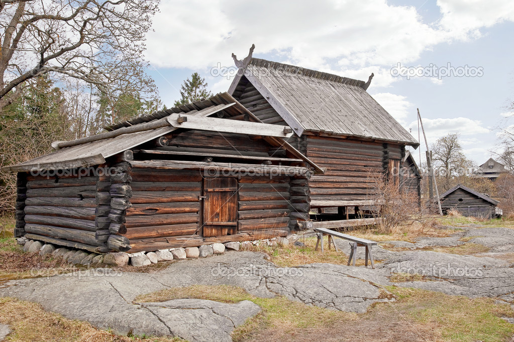
M364 81L252 58L229 88L234 95L245 77L300 136L325 132L405 143L419 143L366 92ZM235 96L235 95L234 95Z

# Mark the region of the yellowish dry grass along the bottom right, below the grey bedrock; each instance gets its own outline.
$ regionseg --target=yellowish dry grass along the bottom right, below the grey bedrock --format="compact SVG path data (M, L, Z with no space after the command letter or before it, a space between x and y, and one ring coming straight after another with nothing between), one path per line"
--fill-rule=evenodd
M491 298L449 296L425 290L388 288L396 301L372 305L365 314L345 313L290 301L258 298L230 286L191 286L139 296L137 301L200 298L237 303L251 300L263 311L232 333L235 341L413 341L505 340L514 326L500 317L514 317L507 305Z

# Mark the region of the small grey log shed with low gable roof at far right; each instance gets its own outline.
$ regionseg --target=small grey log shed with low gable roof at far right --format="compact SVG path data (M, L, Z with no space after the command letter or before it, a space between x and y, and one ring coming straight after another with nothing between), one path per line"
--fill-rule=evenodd
M489 196L471 190L463 185L457 185L439 197L443 214L457 210L464 216L492 218L501 216L497 206L500 202Z

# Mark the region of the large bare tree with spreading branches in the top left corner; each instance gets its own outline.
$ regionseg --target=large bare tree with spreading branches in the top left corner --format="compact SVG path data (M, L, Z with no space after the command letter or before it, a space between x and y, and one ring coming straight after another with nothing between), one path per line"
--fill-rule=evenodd
M0 0L0 109L48 72L82 79L113 96L120 84L153 92L140 56L157 5L158 0Z

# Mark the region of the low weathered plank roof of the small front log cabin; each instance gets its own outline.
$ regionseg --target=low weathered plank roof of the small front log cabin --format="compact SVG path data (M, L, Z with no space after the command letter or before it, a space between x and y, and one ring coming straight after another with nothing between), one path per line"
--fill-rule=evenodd
M219 93L206 100L155 112L151 115L108 127L107 130L112 133L107 132L96 135L97 137L103 137L109 136L109 134L119 134L117 136L102 138L93 142L85 142L89 137L72 140L71 142L66 142L66 144L74 146L58 149L24 163L4 167L2 170L6 172L28 172L44 169L72 169L103 164L108 157L178 129L171 126L166 120L168 116L176 113L188 113L188 115L198 116L220 114L221 117L248 115L254 122L261 122L228 93ZM137 130L138 127L141 128L141 131L123 133L125 131ZM317 172L322 172L321 168L285 142L284 139L278 137L264 137L264 139L273 146L285 148L291 154L309 163Z

